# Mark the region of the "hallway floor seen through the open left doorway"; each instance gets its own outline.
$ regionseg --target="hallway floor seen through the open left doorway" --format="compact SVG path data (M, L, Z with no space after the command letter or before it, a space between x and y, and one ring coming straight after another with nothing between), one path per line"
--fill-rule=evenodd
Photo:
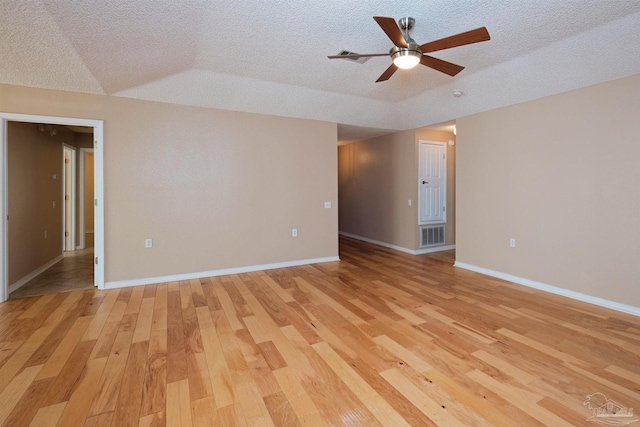
M9 299L93 289L93 233L86 234L86 249L65 252L62 261L9 294Z

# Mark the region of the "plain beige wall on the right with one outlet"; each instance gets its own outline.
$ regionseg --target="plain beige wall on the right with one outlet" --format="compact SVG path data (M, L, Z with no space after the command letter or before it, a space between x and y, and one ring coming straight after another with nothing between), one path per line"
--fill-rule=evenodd
M639 112L636 75L458 119L457 261L640 307Z

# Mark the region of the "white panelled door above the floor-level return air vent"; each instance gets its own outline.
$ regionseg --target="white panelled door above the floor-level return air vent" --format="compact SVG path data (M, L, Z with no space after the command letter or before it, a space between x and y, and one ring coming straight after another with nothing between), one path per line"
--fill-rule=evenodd
M420 141L420 223L447 220L447 146Z

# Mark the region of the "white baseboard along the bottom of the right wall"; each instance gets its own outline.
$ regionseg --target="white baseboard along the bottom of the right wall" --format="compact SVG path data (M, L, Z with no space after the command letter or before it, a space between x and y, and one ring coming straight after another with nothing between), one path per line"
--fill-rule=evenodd
M600 297L594 297L591 295L583 294L580 292L572 291L569 289L558 288L556 286L547 285L545 283L536 282L534 280L525 279L518 276L512 276L511 274L501 273L499 271L489 270L484 267L477 267L475 265L466 264L464 262L456 261L453 264L454 267L463 268L465 270L475 271L476 273L486 274L487 276L496 277L498 279L507 280L509 282L517 283L518 285L527 286L530 288L538 289L544 292L549 292L563 297L575 299L578 301L587 302L589 304L598 305L600 307L610 308L612 310L621 311L623 313L632 314L634 316L640 316L640 307L634 307L627 304L621 304L619 302L607 300Z

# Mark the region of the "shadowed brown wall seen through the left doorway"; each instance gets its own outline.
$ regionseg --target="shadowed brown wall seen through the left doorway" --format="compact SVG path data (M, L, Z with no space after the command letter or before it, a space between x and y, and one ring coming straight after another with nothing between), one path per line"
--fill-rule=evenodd
M56 132L40 132L31 123L8 125L9 284L62 255L62 143L73 134Z

